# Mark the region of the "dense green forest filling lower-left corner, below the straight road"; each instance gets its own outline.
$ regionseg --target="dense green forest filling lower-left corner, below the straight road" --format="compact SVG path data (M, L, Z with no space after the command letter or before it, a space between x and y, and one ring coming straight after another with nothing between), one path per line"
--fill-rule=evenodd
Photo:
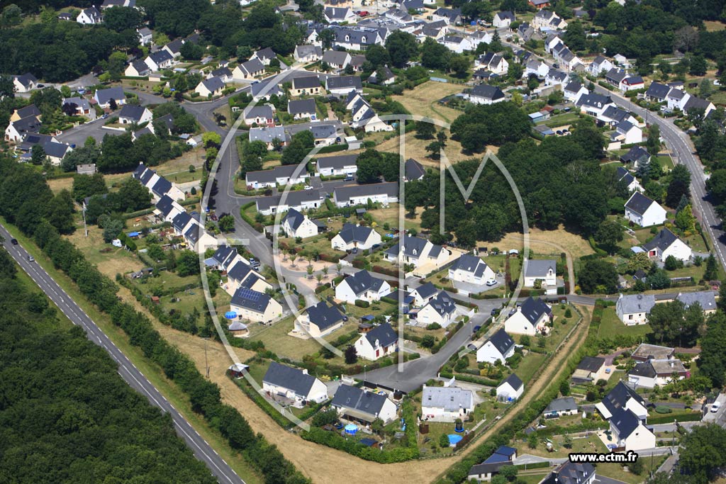
M15 272L0 250L0 480L216 482L107 353L81 328L62 327L46 297Z

